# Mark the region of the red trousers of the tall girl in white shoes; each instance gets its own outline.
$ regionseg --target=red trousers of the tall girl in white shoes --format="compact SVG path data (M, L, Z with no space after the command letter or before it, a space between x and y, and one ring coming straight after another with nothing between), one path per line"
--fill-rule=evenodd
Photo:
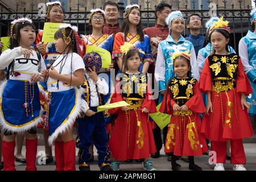
M245 164L245 150L242 139L230 139L231 164ZM226 163L226 142L212 141L211 150L217 154L217 163Z

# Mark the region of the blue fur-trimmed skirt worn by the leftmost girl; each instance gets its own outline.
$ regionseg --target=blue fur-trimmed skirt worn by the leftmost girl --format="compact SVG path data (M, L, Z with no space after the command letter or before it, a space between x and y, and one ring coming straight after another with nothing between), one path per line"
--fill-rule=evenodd
M23 132L38 125L42 121L38 84L21 80L3 82L0 108L4 130Z

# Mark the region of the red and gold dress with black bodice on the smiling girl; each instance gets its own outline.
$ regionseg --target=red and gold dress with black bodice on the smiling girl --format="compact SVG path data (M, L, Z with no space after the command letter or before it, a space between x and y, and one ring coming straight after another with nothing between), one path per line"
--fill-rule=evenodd
M186 105L188 111L174 111L175 104ZM199 113L205 111L204 101L195 78L172 78L159 111L172 115L165 152L174 152L176 156L199 156L208 151L204 135L200 133Z

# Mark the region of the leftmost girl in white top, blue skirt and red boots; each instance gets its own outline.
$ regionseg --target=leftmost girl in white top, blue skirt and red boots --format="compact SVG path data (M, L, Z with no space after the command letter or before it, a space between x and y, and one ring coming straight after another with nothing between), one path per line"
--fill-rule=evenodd
M9 49L0 56L0 69L6 67L7 80L0 88L0 125L4 131L2 152L4 170L15 170L15 135L26 132L26 170L36 170L38 147L36 126L40 117L39 88L40 71L46 69L43 57L31 49L36 33L32 20L16 19L11 22Z

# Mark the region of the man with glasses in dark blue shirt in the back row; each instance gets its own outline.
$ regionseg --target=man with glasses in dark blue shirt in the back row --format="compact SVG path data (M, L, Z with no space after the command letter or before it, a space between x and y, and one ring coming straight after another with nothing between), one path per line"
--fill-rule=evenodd
M185 39L193 44L197 56L199 50L203 48L205 40L205 36L200 34L202 28L202 19L200 18L200 15L190 15L187 20L187 28L190 31L190 34Z

